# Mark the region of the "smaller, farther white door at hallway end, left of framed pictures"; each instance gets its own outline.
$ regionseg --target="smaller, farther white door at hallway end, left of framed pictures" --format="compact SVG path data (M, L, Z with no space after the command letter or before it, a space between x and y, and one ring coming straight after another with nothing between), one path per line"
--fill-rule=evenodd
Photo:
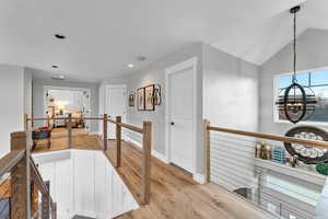
M106 89L106 113L110 119L121 116L126 122L126 85L113 85ZM115 125L108 124L108 139L115 139Z

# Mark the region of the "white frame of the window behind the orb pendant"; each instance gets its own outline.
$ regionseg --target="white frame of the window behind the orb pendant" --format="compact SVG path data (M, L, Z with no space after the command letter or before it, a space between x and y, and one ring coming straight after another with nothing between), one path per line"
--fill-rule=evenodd
M316 68L316 69L309 69L309 70L302 70L302 71L297 71L296 73L308 73L308 72L313 72L313 71L323 71L323 70L327 70L328 71L328 67L323 67L323 68ZM276 124L291 124L291 122L289 120L282 120L279 119L279 113L277 111L277 105L276 102L278 101L278 96L279 96L279 79L282 76L291 76L293 74L293 72L284 72L284 73L278 73L273 76L273 123ZM300 125L312 125L312 126L326 126L328 127L328 122L312 122L312 120L301 120L298 123Z

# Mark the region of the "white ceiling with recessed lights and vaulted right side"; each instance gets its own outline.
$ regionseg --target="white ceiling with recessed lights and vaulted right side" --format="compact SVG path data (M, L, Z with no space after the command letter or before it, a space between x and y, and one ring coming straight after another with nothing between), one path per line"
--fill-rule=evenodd
M291 39L288 10L305 0L1 0L0 62L95 82L144 68L196 42L260 65ZM308 0L300 31L328 27ZM301 33L300 32L300 33ZM54 34L67 36L58 41ZM137 56L145 56L138 62ZM134 69L127 65L136 64ZM54 73L54 72L51 72Z

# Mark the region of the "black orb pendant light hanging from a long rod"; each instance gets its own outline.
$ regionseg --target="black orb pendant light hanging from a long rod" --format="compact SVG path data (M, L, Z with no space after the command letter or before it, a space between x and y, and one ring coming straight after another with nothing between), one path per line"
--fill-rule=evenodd
M290 12L294 16L294 38L293 38L293 77L292 84L283 89L276 102L278 106L279 114L285 117L293 124L301 120L308 119L316 107L315 93L311 88L306 88L297 83L296 79L296 13L301 10L301 7L294 7Z

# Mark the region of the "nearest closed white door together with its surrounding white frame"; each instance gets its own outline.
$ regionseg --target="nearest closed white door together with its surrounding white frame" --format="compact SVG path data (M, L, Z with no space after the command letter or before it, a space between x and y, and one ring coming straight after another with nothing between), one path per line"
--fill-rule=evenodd
M166 69L167 160L195 173L197 58Z

